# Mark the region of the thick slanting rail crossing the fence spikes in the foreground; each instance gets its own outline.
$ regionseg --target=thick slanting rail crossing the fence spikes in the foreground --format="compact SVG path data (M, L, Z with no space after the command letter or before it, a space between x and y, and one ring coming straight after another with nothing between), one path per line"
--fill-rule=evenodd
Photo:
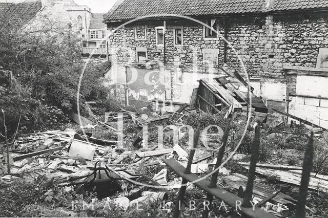
M199 179L199 177L195 174L189 173L185 174L186 168L183 167L179 162L177 162L175 159L163 159L162 160L164 163L166 163L171 169L173 169L180 177L183 179L186 179L189 182L194 182ZM238 208L240 207L242 213L249 215L254 218L275 218L273 214L270 214L261 208L256 207L254 210L253 208L245 208L240 206L242 203L242 199L239 198L238 196L234 195L233 193L230 193L226 191L223 188L210 188L210 182L207 181L205 178L193 183L195 186L201 188L204 191L207 191L208 193L211 193L214 197L220 199L221 201L224 201L224 203L229 204L233 208L236 208L236 205Z

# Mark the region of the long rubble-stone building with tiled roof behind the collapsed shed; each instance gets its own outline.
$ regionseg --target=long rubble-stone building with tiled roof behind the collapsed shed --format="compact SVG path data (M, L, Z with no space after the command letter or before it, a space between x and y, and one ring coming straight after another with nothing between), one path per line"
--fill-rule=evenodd
M140 104L189 103L202 77L249 75L269 108L304 117L309 104L307 119L328 126L327 11L328 0L120 0L105 18L109 76Z

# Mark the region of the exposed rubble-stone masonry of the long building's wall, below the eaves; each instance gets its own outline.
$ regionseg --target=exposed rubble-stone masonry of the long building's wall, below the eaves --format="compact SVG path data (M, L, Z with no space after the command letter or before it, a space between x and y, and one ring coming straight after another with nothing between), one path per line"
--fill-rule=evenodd
M224 34L223 19L218 19L218 30ZM204 20L201 20L204 21ZM183 76L197 72L203 75L202 49L218 49L218 65L229 72L244 75L239 57L242 59L251 81L258 83L258 89L264 83L280 83L284 87L290 82L283 75L283 66L316 67L320 47L328 48L328 15L324 12L302 13L290 15L243 16L227 18L227 61L224 57L224 41L221 38L204 40L203 27L190 20L166 21L166 65L172 73L173 95L181 95L182 83L177 82L173 64L179 64ZM135 37L135 26L146 25L146 39L137 28L138 39ZM163 62L164 48L156 46L155 28L163 26L163 21L137 21L127 25L110 36L110 47L116 47L117 61L130 63L136 61L136 48L147 48L148 59ZM117 25L108 24L113 30ZM183 46L173 44L173 28L183 27ZM235 51L238 52L236 55ZM194 59L196 61L194 61ZM218 70L215 71L217 73ZM182 77L183 77L182 76ZM183 79L184 80L184 79ZM190 82L190 81L188 81ZM267 85L268 87L268 85ZM267 90L270 90L267 88ZM187 93L192 90L186 91ZM258 91L258 93L262 93ZM263 93L262 93L263 94ZM270 98L274 93L263 94ZM283 101L284 94L277 91L273 100ZM174 96L173 96L174 97Z

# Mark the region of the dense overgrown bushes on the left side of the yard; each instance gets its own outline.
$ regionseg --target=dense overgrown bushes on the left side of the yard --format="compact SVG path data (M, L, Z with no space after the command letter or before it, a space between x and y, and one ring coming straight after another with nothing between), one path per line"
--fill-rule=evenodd
M97 103L92 106L94 114L118 110L119 103L108 97L109 90L103 85L110 63L89 61L79 81L86 62L73 35L26 33L2 19L0 38L0 105L9 135L20 116L23 132L60 128L67 123L68 112L77 108L78 87L83 115L88 115L86 101Z

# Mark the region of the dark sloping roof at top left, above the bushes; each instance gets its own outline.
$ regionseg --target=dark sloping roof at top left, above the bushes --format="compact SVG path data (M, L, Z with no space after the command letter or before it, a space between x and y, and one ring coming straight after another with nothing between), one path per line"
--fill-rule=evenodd
M41 9L41 1L12 4L6 12L6 17L12 25L21 28L33 19Z

